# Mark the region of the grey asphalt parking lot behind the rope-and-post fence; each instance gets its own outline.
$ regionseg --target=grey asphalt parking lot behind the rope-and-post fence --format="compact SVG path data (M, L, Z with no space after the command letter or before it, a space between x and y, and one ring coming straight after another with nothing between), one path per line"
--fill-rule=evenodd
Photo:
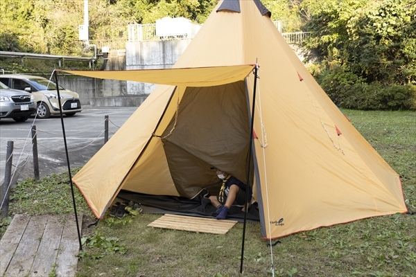
M83 107L75 116L64 118L65 135L71 168L84 166L104 145L105 116L109 117L109 139L137 107ZM0 120L0 184L3 184L8 141L13 141L13 180L34 177L31 128L37 129L37 152L40 177L68 170L60 116L48 119L29 118L17 123Z

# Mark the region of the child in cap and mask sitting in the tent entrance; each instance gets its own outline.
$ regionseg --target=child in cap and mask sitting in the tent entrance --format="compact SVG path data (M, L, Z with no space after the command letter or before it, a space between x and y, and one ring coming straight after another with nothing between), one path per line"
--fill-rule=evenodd
M209 200L211 200L211 205L216 207L216 216L217 220L225 220L228 215L229 208L234 204L238 206L243 206L242 211L245 211L245 206L250 207L250 201L247 205L245 204L245 192L248 188L248 193L250 193L248 199L252 199L252 190L247 185L243 184L242 181L236 179L236 177L229 175L227 172L219 170L216 168L216 174L218 178L223 180L223 186L221 186L220 195L214 196L211 195ZM225 194L225 195L224 195Z

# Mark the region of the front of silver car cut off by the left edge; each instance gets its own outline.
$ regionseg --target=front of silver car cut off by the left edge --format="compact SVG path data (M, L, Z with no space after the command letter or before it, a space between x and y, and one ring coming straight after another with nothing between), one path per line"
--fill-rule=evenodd
M17 122L23 122L35 111L35 98L31 93L9 89L0 82L0 118L13 118Z

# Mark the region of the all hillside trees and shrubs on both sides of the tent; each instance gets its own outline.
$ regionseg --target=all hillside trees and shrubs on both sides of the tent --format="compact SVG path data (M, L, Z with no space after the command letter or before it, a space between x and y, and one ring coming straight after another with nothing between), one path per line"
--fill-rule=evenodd
M89 39L125 42L128 24L186 17L203 24L218 0L89 0ZM309 70L338 107L416 109L416 0L263 0L284 32L313 35L302 45ZM78 40L84 1L0 1L0 51L89 55ZM318 57L318 59L316 59ZM40 72L56 62L1 69ZM77 66L66 63L64 66ZM50 72L50 71L49 71Z

